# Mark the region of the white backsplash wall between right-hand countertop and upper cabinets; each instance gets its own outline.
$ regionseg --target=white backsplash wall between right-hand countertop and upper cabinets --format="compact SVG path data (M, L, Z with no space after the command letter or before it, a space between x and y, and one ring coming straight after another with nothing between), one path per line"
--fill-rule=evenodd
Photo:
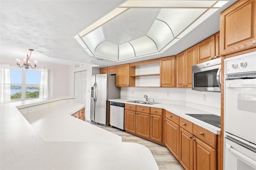
M144 94L148 95L149 101L154 99L160 103L186 105L220 115L220 93L216 92L200 92L191 88L122 87L120 93L121 98L143 101ZM203 95L206 95L206 101Z

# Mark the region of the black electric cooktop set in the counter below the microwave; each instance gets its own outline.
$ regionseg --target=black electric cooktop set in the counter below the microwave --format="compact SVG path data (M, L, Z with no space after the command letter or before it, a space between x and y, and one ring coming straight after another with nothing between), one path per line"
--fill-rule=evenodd
M220 116L212 114L185 114L220 128Z

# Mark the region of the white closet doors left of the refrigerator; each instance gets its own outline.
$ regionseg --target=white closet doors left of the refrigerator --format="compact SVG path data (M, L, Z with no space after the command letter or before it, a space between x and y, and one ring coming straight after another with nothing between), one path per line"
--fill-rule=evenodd
M75 102L85 105L86 103L86 71L75 72L74 96Z

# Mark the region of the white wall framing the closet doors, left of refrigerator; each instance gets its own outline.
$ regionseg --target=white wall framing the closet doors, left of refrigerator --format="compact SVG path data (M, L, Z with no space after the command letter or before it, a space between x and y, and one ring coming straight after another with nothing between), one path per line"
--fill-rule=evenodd
M68 72L68 95L74 96L74 75L78 71L86 71L86 105L85 105L85 118L90 120L90 87L91 87L91 75L100 73L99 68L93 68L96 65L79 63L79 67L75 68L75 65L69 66Z

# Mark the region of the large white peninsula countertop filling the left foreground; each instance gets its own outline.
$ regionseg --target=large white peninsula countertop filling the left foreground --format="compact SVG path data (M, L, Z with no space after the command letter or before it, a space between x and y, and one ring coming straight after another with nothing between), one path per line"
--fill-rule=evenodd
M22 115L18 109L70 97L0 105L0 169L158 169L148 148L72 117L84 107L62 103ZM18 109L17 109L18 108Z

